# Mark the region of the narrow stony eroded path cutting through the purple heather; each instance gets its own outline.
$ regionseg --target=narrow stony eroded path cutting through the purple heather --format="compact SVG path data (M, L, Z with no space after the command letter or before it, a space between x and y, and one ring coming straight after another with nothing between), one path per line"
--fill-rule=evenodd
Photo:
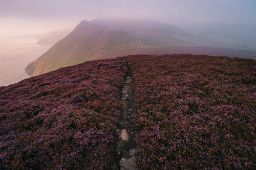
M125 60L123 60L126 62ZM127 62L126 62L127 64ZM134 94L132 90L133 80L131 71L126 77L122 88L122 106L120 128L117 130L119 139L116 148L116 161L113 169L115 170L136 170L138 169L135 163L137 152L136 150L136 132L134 130Z

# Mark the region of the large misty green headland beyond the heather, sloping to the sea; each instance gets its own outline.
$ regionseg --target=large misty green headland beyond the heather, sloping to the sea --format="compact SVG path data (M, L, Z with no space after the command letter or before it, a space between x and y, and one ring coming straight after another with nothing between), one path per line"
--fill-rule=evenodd
M51 40L46 37L40 42ZM83 20L69 35L29 63L25 70L28 75L36 76L84 61L138 54L190 53L256 57L256 51L226 48L232 45L231 41L205 38L201 34L154 20Z

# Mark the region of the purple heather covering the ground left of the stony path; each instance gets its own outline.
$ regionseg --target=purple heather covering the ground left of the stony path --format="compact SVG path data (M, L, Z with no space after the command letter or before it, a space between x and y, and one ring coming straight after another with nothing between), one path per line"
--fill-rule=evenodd
M110 169L127 73L85 62L0 89L0 169Z

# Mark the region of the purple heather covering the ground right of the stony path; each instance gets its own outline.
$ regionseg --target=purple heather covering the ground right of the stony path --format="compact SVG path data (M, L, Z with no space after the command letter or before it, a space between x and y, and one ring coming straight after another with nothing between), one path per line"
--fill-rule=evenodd
M255 169L256 62L129 56L140 169Z

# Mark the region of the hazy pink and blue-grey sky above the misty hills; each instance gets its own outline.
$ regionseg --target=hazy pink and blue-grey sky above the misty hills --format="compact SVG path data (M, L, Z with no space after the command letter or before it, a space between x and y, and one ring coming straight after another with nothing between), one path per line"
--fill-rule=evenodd
M147 18L174 26L256 24L255 9L255 0L0 0L0 34L74 28L83 19L104 17Z

